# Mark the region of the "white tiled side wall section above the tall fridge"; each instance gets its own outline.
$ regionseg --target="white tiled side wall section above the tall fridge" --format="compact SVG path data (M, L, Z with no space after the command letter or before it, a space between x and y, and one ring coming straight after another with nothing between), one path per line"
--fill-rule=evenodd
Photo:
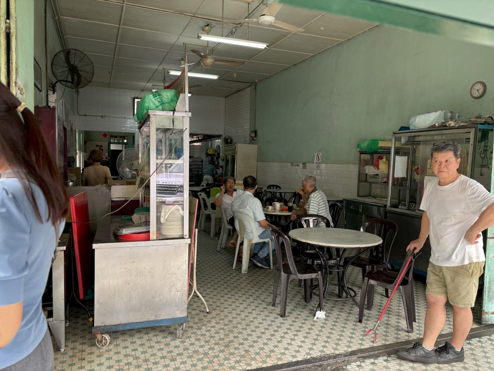
M236 143L249 142L250 87L225 99L225 135Z

